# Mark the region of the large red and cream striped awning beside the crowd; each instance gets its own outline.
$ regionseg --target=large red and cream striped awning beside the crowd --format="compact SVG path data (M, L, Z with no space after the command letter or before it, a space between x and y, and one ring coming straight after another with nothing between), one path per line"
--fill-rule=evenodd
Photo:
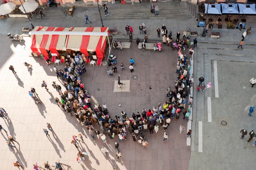
M87 51L96 51L96 56L103 58L108 27L55 28L37 26L29 34L32 35L32 40L35 39L35 45L31 46L32 51L40 48L44 56L48 56L46 50L58 54L57 50L71 49L81 51L86 56L88 56Z

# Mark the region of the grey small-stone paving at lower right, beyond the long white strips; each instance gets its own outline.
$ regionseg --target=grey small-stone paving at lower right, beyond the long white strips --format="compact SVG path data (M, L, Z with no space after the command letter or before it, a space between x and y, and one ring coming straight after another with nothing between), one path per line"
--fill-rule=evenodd
M239 132L245 128L249 133L255 128L255 116L247 115L256 99L249 82L255 76L255 66L250 62L217 61L219 98L212 96L212 122L207 122L204 102L203 153L192 152L189 169L250 169L256 159L255 148L250 147L255 139L247 142L248 135L240 139ZM213 73L211 79L214 82ZM221 125L222 120L227 121L227 126Z

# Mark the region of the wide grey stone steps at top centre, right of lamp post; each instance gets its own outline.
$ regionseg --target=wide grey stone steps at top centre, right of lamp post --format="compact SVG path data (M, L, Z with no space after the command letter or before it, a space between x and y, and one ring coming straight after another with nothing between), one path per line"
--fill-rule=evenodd
M119 4L108 4L107 17L104 11L102 11L102 20L155 20L155 19L176 19L176 20L189 20L196 18L196 9L192 3L188 2L159 2L154 4L160 8L159 15L156 17L150 13L151 3L143 3L143 9L141 4L120 6ZM116 7L116 8L114 8ZM113 9L112 9L113 8ZM98 19L100 19L98 17Z

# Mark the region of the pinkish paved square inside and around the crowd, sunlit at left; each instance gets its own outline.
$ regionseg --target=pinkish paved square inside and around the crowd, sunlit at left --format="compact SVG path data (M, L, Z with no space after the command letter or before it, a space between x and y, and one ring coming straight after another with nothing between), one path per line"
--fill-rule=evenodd
M179 126L183 124L186 127L186 121L183 119L173 119L168 128L169 140L163 141L163 130L159 133L145 135L148 147L133 142L130 135L124 142L119 142L117 137L104 144L101 139L93 141L76 119L63 113L55 104L54 97L58 96L51 82L58 82L53 65L46 65L44 60L28 57L30 38L26 40L26 48L20 42L13 42L8 37L1 37L0 49L0 106L3 107L10 118L10 122L0 119L0 125L8 133L2 131L0 138L0 169L15 170L12 164L18 159L25 169L32 169L32 164L38 162L42 165L45 160L54 164L60 160L62 163L69 164L73 170L100 170L105 168L111 170L116 167L117 170L132 170L140 167L142 170L166 169L166 170L188 170L190 159L190 147L186 147L186 133L179 134ZM176 52L170 48L163 47L163 51L146 50L141 51L137 44L133 42L131 49L123 51L111 51L116 54L117 66L120 62L125 64L125 70L119 71L122 80L131 80L131 93L113 93L113 80L116 80L117 74L110 77L106 74L107 67L87 66L87 73L82 76L82 82L100 104L105 102L108 105L111 116L120 115L124 110L128 115L131 112L142 111L143 108L152 108L158 102L163 103L166 100L165 89L169 85L173 86L176 78L175 64ZM135 60L134 72L128 70L129 58ZM26 61L33 66L29 73L23 65ZM167 62L168 61L168 62ZM9 65L13 65L17 71L18 79L10 71ZM63 68L63 65L57 65ZM138 79L131 79L132 75L137 75ZM41 88L41 81L48 83L49 92ZM140 85L139 85L140 84ZM42 100L41 105L36 105L29 97L28 91L34 87ZM151 90L149 90L151 87ZM99 91L96 89L99 88ZM94 103L94 102L93 102ZM122 106L116 107L121 103ZM46 123L52 125L54 133L49 132L50 138L47 139L43 132ZM95 125L95 128L97 126ZM187 129L186 129L187 130ZM76 162L76 153L78 150L70 144L73 135L82 133L85 143L79 142L79 150L88 153L89 157L83 161L83 165ZM8 135L15 137L19 145L15 143L17 149L9 149L6 144ZM122 153L122 159L117 161L114 142L120 144L119 149ZM110 155L105 157L100 148L105 146L110 151ZM66 168L67 169L67 168Z

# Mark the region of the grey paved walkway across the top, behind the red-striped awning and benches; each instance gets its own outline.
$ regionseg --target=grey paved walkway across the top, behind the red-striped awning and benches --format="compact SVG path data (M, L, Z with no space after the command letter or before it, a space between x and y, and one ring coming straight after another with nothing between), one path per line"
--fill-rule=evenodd
M171 4L171 2L169 2ZM175 2L178 3L178 2ZM134 3L134 5L132 5L131 3L128 3L125 5L125 7L127 6L127 8L131 8L132 6L134 6L134 8L140 8L140 10L142 11L148 11L148 15L151 16L150 10L148 9L148 3ZM159 2L159 3L155 3L154 5L158 5L160 8L159 11L159 15L161 15L161 8L163 8L163 6L161 4L165 4L164 2ZM111 4L108 3L108 12L109 14L113 14L115 11L114 9L119 8L119 6L121 6L121 4L119 3L115 3L115 4ZM103 14L103 11L101 11ZM84 14L88 14L89 15L89 20L92 21L91 24L85 24L85 18L84 18ZM105 15L102 15L102 18L104 18ZM108 17L108 16L107 16ZM223 20L224 17L226 16L222 16ZM240 19L239 16L236 16ZM212 19L215 21L217 20L217 17L212 16ZM246 29L249 28L250 26L252 27L251 29L251 34L248 35L245 38L245 44L246 43L256 43L256 22L254 20L253 16L247 16L247 22L246 22ZM89 27L89 26L93 26L93 27L100 27L102 26L101 21L99 19L99 11L98 8L87 8L87 9L76 9L74 12L73 17L69 16L67 14L66 17L64 18L60 18L58 20L56 20L56 18L48 18L47 16L44 17L42 20L39 18L32 18L32 23L34 26L53 26L53 27ZM231 42L237 42L239 43L241 40L241 35L242 35L242 31L239 32L238 29L226 29L226 25L223 24L222 25L222 29L218 29L213 28L212 31L218 31L221 33L221 37L216 39L216 38L210 38L209 37L209 33L211 31L208 31L209 33L207 34L207 37L201 37L203 28L200 27L198 28L198 22L196 21L196 18L192 18L189 20L179 20L179 18L174 18L172 20L159 20L159 19L155 19L155 20L108 20L108 21L103 21L103 25L105 27L109 27L110 29L118 29L118 34L113 35L113 38L122 38L122 39L128 39L128 37L126 37L126 31L125 31L125 26L129 25L132 26L134 29L134 33L133 33L133 38L137 39L143 39L144 36L143 34L139 34L139 29L138 27L140 26L140 24L144 23L146 28L147 28L147 34L148 34L148 40L161 40L161 38L157 37L157 28L161 28L161 26L164 24L166 25L166 28L168 31L172 31L173 33L173 38L176 38L176 33L177 31L180 31L180 34L183 33L183 31L187 30L188 28L190 28L192 31L198 31L198 41L202 40L202 41L231 41ZM9 32L11 34L22 34L21 29L23 27L29 27L30 23L28 21L27 18L5 18L5 19L1 19L0 20L0 33L1 34L8 34Z

